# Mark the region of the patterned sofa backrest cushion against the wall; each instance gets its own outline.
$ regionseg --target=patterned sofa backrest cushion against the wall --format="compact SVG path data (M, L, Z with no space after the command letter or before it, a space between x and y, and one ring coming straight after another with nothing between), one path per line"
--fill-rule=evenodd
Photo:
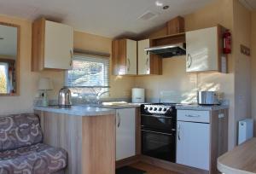
M39 118L33 113L0 117L0 151L43 142Z

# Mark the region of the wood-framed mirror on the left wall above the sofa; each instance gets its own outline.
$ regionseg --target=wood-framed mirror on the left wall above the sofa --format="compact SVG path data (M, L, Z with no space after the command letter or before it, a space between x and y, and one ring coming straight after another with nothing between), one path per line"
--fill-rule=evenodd
M0 96L18 94L20 26L0 22Z

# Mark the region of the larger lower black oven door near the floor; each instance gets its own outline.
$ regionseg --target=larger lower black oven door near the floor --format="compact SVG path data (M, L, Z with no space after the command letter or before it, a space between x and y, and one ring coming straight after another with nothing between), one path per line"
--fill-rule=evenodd
M142 153L175 163L176 138L172 133L142 130Z

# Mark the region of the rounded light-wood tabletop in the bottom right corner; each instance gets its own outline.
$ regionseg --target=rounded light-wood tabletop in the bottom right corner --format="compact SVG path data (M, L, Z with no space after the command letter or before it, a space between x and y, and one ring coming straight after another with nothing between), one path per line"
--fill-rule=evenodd
M225 174L256 173L256 138L242 143L218 158L218 171Z

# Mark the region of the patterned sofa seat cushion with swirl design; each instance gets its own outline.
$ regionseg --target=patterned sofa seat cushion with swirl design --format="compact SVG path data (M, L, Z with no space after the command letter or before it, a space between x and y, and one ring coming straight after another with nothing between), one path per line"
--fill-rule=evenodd
M43 143L0 153L1 174L49 174L64 169L66 165L65 150Z

